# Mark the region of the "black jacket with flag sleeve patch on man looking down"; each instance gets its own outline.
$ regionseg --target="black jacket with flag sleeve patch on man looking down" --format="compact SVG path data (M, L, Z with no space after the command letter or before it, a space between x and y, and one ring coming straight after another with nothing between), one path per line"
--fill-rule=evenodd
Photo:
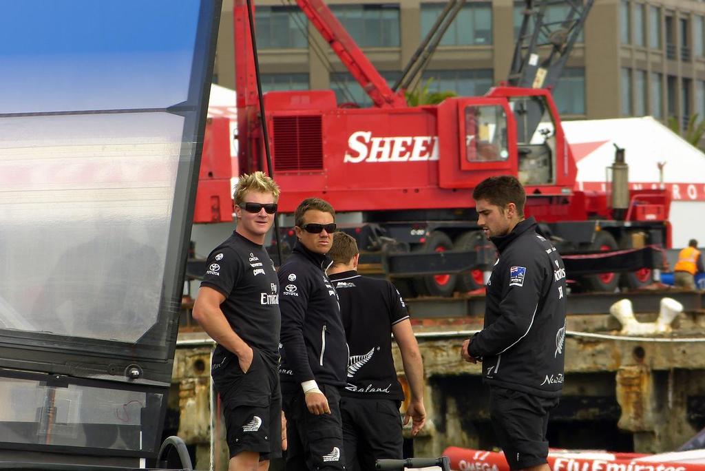
M493 237L499 258L486 290L484 329L468 353L491 386L560 396L565 360L565 266L534 218Z

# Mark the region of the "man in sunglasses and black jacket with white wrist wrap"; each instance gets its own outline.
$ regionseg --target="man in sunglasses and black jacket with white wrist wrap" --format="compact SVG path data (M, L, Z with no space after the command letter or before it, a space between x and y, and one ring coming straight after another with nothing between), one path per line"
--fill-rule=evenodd
M342 470L339 389L345 386L348 345L338 295L326 276L335 211L324 200L307 198L294 217L298 241L278 273L286 470Z

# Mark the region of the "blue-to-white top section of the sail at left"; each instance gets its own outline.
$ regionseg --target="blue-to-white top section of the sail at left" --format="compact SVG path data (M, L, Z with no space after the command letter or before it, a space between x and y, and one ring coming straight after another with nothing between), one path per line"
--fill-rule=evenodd
M201 0L0 0L0 114L183 102Z

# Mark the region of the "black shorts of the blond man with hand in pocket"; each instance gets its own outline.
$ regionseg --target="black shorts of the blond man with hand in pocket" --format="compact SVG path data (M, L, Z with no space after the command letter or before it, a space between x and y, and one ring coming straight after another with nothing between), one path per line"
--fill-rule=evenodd
M269 460L281 456L278 361L255 348L252 353L247 373L235 355L214 354L211 376L223 403L230 457L254 451L260 460Z

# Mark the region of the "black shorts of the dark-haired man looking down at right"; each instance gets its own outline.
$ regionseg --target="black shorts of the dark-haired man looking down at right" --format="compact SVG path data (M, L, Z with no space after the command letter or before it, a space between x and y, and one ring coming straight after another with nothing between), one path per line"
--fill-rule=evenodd
M556 405L558 398L491 386L490 419L510 470L547 463L548 411Z

